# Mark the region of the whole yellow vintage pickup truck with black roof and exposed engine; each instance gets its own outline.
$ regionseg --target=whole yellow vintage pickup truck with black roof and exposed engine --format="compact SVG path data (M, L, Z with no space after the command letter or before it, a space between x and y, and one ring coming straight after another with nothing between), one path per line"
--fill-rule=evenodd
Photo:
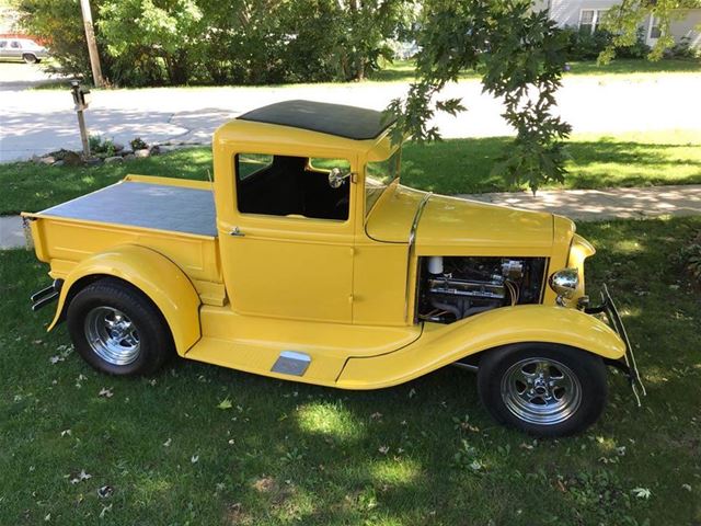
M606 365L641 389L608 293L588 305L574 224L401 185L391 128L280 102L217 129L214 182L129 175L23 214L54 278L34 308L58 299L50 328L113 375L176 353L376 389L457 365L496 420L540 436L598 419Z

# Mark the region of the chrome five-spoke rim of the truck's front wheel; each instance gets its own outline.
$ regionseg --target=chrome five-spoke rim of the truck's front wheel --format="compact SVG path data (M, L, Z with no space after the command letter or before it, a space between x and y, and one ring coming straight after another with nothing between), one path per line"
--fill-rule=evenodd
M582 385L566 365L551 358L526 358L502 378L502 400L518 419L554 425L571 418L582 403Z

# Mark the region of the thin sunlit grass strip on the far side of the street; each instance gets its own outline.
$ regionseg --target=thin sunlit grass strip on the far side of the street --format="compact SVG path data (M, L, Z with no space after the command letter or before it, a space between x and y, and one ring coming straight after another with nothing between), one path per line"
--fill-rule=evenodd
M596 60L583 60L570 62L571 70L567 77L576 76L641 76L651 73L701 73L701 60L694 58L669 58L653 62L642 59L614 59L606 66L598 66ZM459 80L480 79L479 71L466 70L460 73ZM371 75L375 82L411 82L414 80L413 60L394 60L387 62L383 69Z

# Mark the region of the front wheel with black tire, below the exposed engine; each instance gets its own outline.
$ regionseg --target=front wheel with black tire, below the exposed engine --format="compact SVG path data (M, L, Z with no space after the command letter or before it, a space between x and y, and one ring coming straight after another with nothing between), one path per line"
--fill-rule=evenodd
M552 343L519 343L481 358L478 390L498 422L556 437L581 433L599 419L608 384L604 361L591 353Z

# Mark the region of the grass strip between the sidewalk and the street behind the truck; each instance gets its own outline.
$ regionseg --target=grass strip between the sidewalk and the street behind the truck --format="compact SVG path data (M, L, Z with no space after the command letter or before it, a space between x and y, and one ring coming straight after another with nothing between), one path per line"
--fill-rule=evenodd
M492 175L494 159L510 139L453 139L407 144L402 160L404 184L443 194L514 190ZM572 160L566 188L701 183L701 134L657 132L616 137L577 135L568 142ZM0 164L0 215L36 211L112 184L127 173L207 180L211 153L194 148L99 168ZM551 186L552 187L552 186Z

